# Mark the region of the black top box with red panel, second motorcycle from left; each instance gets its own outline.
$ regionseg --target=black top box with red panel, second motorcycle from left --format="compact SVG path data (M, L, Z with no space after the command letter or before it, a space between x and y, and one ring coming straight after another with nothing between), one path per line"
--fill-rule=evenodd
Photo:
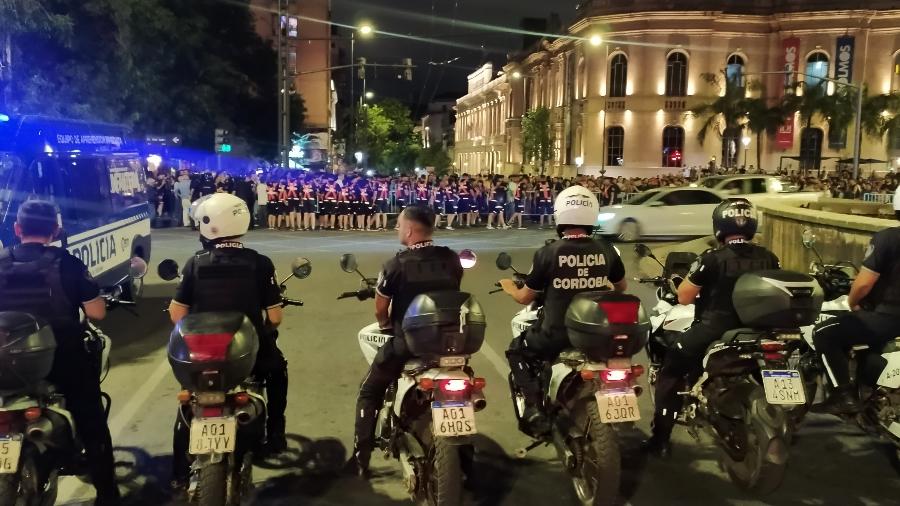
M233 311L189 314L169 336L169 364L192 391L227 391L250 377L259 337L246 315Z

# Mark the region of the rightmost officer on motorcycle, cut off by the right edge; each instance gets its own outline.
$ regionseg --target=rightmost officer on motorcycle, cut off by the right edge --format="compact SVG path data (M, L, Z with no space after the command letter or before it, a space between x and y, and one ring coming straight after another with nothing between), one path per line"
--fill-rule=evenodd
M900 219L900 188L894 196L894 214ZM862 269L847 297L851 312L816 325L813 343L822 354L834 392L812 411L834 415L859 411L859 390L850 381L850 348L867 344L878 352L900 335L900 227L882 230L872 237ZM877 354L877 353L876 353ZM868 370L871 382L884 370L884 359Z

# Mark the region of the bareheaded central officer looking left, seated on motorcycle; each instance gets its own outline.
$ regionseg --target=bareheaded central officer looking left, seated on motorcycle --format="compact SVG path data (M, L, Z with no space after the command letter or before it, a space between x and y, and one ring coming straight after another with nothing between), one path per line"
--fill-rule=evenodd
M407 207L400 213L397 227L406 250L384 264L375 287L375 317L382 330L393 330L394 337L378 350L359 388L353 456L347 464L348 472L364 478L369 477L375 424L384 394L413 357L402 336L403 316L418 295L459 290L463 275L456 252L434 245L434 211L430 207Z

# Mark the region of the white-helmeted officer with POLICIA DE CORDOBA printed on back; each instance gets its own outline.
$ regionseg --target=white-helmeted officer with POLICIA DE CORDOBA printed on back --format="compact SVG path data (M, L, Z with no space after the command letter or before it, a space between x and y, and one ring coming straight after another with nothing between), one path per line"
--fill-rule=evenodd
M543 310L529 330L513 339L506 351L513 381L525 398L523 419L533 436L550 431L543 411L543 388L538 370L571 347L565 327L566 310L575 295L608 288L627 288L625 266L618 251L606 241L591 238L600 205L583 186L563 190L554 204L556 232L561 240L537 250L531 272L519 287L515 280L500 281L503 291L519 304L543 299ZM601 258L602 261L596 261ZM591 262L579 262L591 258ZM584 282L582 282L584 281Z

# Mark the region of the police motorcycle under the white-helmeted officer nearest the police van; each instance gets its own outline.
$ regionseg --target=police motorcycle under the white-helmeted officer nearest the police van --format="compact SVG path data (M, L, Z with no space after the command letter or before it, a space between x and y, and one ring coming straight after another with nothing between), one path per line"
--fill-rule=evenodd
M311 273L309 260L295 259L282 293ZM158 274L176 279L178 263L163 260ZM303 301L282 297L282 306ZM266 437L265 384L252 376L258 351L256 329L240 312L188 314L169 336L169 364L183 388L178 416L190 427L188 498L201 506L237 505L252 489L254 453Z

